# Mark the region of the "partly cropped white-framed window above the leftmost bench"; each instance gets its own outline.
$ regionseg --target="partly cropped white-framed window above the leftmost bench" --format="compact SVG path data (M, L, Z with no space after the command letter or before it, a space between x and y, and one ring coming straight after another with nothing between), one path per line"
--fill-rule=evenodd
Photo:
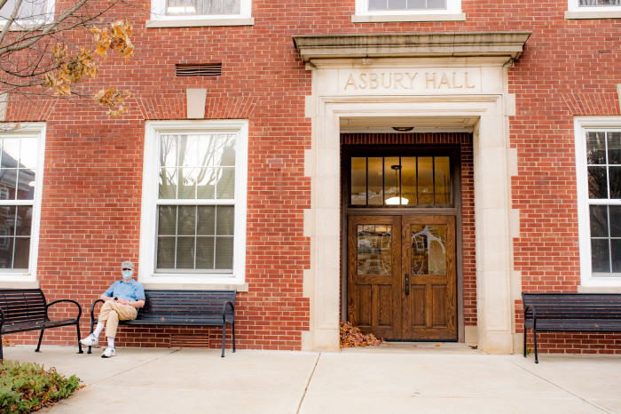
M2 124L0 281L36 279L44 147L45 123Z

